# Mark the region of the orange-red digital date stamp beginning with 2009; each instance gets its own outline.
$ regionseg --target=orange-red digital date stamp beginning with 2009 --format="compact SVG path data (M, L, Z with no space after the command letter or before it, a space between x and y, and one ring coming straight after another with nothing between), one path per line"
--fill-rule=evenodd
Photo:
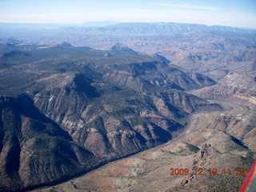
M194 170L190 171L188 168L170 168L170 175L188 175L188 174L194 174L194 175L246 175L246 169L245 168L224 168L222 170L218 170L217 168L210 168L208 170L204 170L202 168L194 168Z

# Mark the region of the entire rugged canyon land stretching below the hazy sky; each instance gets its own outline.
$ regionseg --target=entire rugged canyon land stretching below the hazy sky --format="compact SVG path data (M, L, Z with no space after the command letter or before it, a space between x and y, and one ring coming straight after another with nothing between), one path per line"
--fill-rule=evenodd
M0 26L0 190L54 185L100 166L46 190L242 185L245 175L169 174L170 167L249 169L254 161L253 30L174 23L10 28Z

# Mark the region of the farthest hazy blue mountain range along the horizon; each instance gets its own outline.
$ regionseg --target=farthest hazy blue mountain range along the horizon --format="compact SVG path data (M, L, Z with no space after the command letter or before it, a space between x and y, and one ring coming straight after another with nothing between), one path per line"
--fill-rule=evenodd
M86 34L170 34L194 31L231 31L252 33L252 29L231 26L206 26L174 22L86 22L74 24L45 23L0 23L0 30L62 30L69 33L83 32Z

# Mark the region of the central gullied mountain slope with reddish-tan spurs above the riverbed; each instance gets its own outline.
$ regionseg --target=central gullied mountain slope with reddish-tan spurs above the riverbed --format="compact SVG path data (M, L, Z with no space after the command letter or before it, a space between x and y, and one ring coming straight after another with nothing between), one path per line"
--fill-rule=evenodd
M181 131L182 119L199 103L206 103L182 92L139 94L139 98L130 91L116 91L114 96L101 96L90 85L86 87L83 79L78 74L76 81L64 88L35 94L34 105L66 130L74 142L100 157L133 154L167 142L173 132ZM78 82L83 86L79 88Z

